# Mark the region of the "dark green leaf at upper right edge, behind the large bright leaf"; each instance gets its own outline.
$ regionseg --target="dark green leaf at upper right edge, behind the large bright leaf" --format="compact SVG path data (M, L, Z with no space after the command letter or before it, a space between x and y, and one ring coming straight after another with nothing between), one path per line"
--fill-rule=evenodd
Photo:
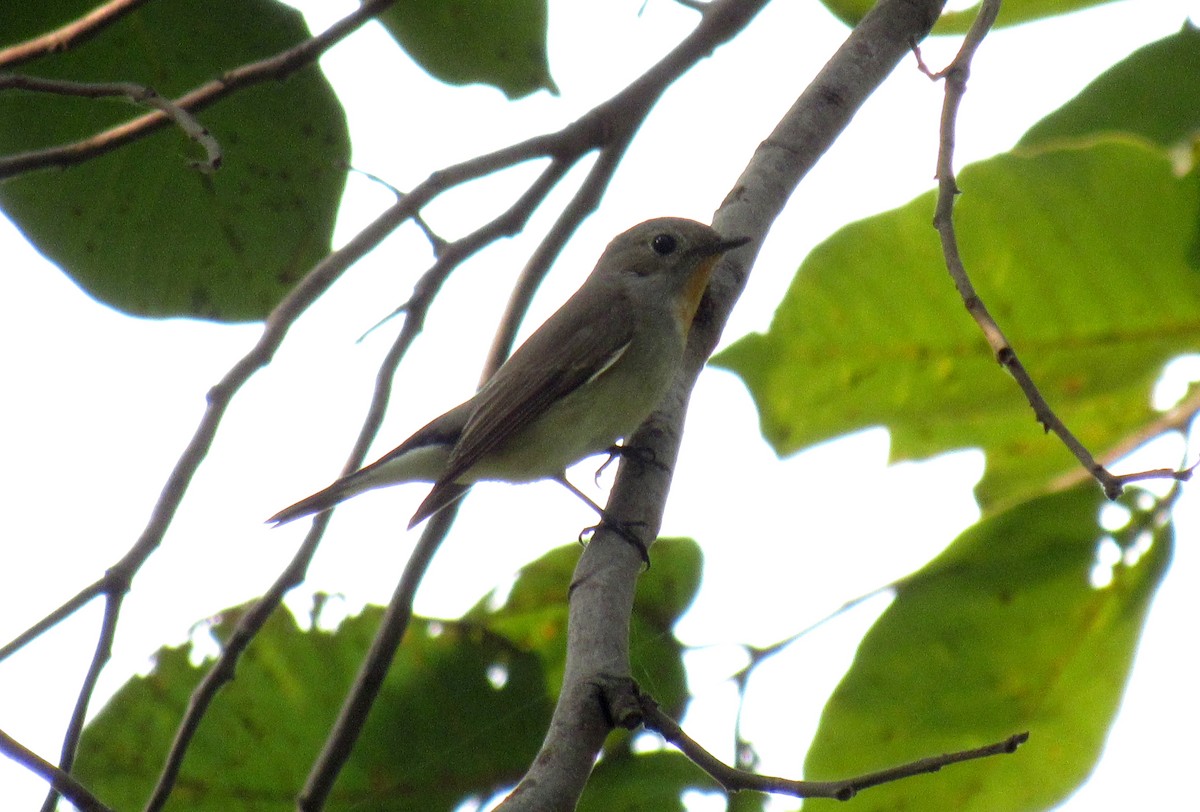
M1200 136L1200 29L1152 42L1102 73L1061 108L1033 125L1019 146L1039 146L1098 133L1141 136L1163 148Z

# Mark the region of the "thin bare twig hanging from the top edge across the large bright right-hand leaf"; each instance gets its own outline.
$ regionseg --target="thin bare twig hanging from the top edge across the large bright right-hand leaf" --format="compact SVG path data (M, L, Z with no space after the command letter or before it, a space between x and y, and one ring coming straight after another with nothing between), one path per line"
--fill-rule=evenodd
M1025 393L1026 401L1033 409L1033 416L1046 432L1054 432L1067 450L1070 451L1080 465L1084 467L1092 477L1104 488L1104 495L1116 499L1121 495L1127 482L1147 479L1175 479L1186 480L1192 471L1176 471L1159 469L1153 471L1138 471L1135 474L1114 475L1104 465L1098 463L1091 451L1072 433L1067 425L1055 414L1045 397L1038 390L1032 375L1016 355L1016 350L1008 342L1004 332L1000 329L996 319L992 318L983 299L976 291L967 275L966 266L959 252L958 236L954 228L954 198L959 193L958 182L954 175L954 144L955 126L958 122L959 108L967 89L967 77L971 73L971 60L978 50L991 24L1000 13L1001 0L984 0L979 8L979 16L971 25L962 47L954 56L954 60L941 72L930 73L934 79L942 79L946 83L946 101L942 106L941 137L937 151L937 207L934 215L934 228L937 229L942 241L942 253L946 257L946 267L954 279L954 287L962 297L962 303L967 312L979 325L988 345L991 348L996 361L1003 366ZM929 68L922 64L922 70L929 73Z

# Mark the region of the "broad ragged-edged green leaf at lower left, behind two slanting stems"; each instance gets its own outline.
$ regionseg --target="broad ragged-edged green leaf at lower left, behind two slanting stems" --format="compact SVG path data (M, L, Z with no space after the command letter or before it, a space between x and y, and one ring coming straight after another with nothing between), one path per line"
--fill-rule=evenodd
M215 627L226 639L242 609ZM382 609L336 632L276 613L205 714L168 810L292 810ZM78 775L114 808L140 808L209 666L164 648L84 732ZM452 808L515 782L552 709L541 663L470 624L415 620L346 765L331 808ZM486 746L480 746L481 744Z

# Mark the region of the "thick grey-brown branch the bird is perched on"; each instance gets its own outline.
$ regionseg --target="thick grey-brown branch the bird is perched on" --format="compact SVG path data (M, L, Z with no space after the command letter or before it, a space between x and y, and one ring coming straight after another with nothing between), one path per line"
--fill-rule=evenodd
M714 2L702 26L755 4ZM760 145L714 219L730 236L752 242L722 259L692 324L680 374L632 445L649 449L670 469L678 456L686 403L696 378L740 295L755 252L800 179L846 127L854 112L923 38L941 12L941 0L882 0L851 32L834 58ZM754 11L757 11L755 5ZM620 464L607 512L616 521L642 522L653 539L661 524L670 473ZM563 691L541 752L500 805L515 810L568 808L583 790L610 724L595 685L629 675L628 628L641 557L617 534L601 529L584 549L570 600L570 633ZM616 633L614 633L616 632Z

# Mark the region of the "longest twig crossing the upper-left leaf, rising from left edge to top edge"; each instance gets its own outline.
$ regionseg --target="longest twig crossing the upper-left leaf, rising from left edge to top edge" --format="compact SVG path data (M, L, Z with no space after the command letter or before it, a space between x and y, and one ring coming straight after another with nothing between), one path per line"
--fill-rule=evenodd
M234 68L220 79L190 90L174 104L184 110L196 113L214 102L224 98L235 90L250 85L283 79L302 67L307 67L329 50L358 30L364 23L382 12L396 0L365 0L356 10L334 23L331 26L304 42L288 48L274 56L250 62ZM150 113L125 124L98 132L83 140L52 146L44 150L22 152L0 158L0 180L12 178L35 169L47 167L70 167L110 152L139 138L144 138L170 121L163 113Z

